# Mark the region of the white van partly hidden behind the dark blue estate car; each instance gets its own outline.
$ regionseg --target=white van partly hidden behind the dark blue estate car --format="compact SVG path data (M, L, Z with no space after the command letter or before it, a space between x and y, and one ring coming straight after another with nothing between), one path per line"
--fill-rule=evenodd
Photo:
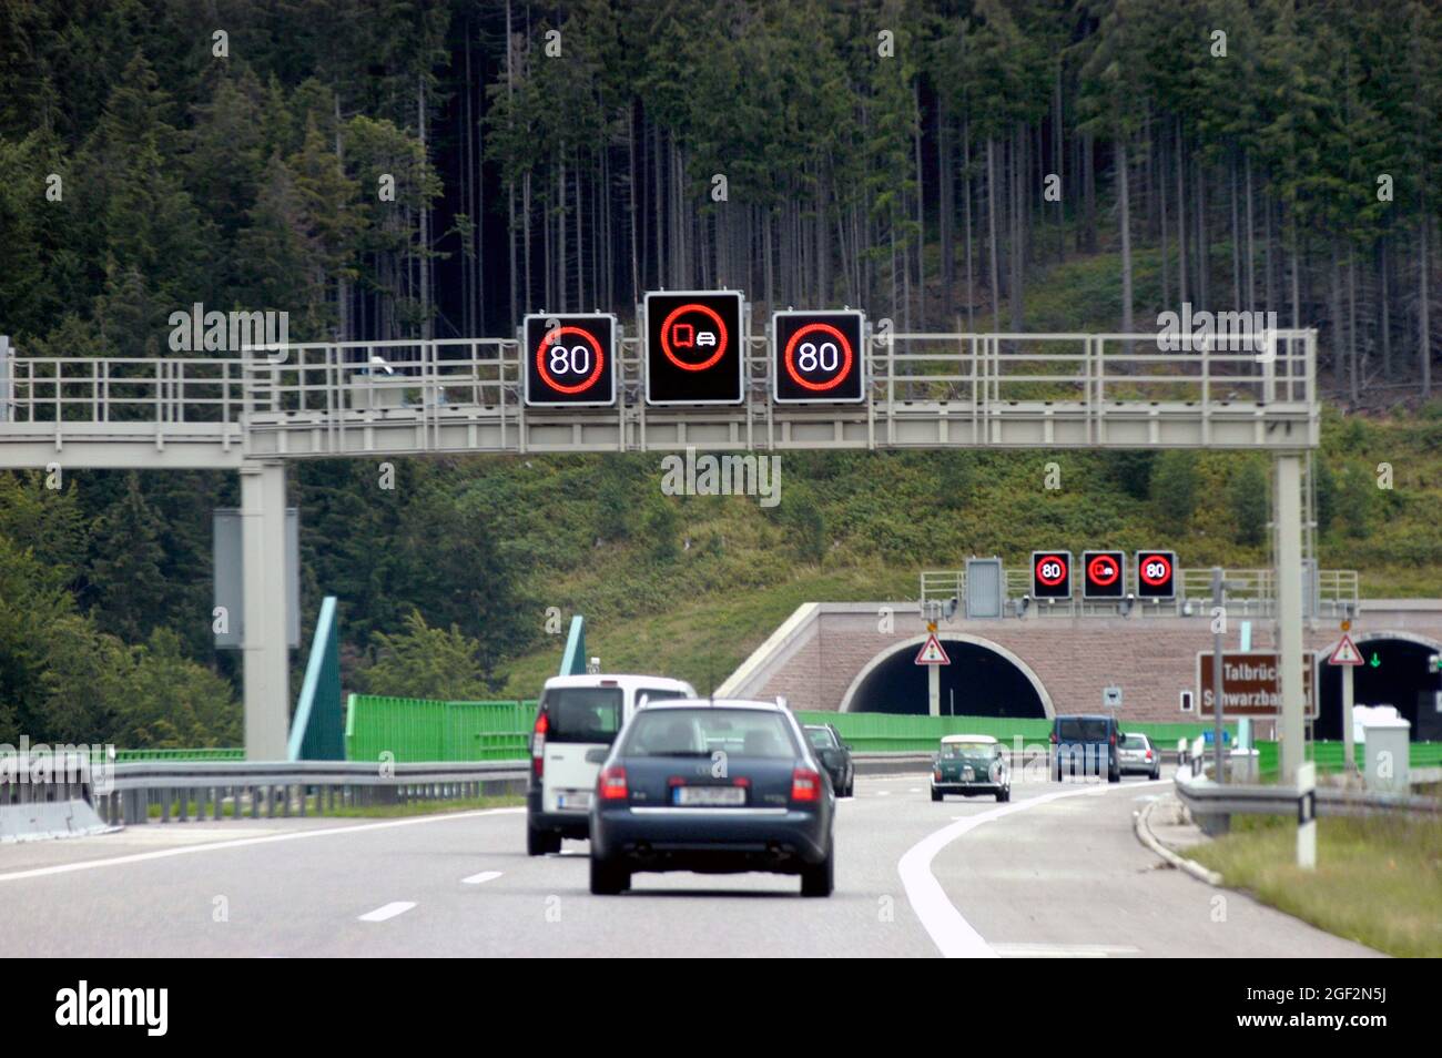
M585 837L597 767L642 701L695 698L685 680L665 676L552 676L545 682L531 731L526 786L526 855L559 852L562 837Z

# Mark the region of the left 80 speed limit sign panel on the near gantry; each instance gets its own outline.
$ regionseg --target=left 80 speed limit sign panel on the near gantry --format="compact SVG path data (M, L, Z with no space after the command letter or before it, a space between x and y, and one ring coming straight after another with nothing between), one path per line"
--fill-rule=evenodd
M604 408L616 404L616 317L526 316L521 326L526 404Z

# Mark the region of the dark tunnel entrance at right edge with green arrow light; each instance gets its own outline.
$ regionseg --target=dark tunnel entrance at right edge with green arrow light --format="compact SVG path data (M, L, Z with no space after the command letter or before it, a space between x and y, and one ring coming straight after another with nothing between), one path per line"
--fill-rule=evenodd
M1442 675L1428 672L1428 657L1438 647L1428 643L1379 636L1357 639L1357 650L1364 664L1353 676L1354 705L1392 705L1397 715L1412 724L1413 742L1442 741L1442 712L1436 709L1436 693L1442 690ZM1376 659L1376 664L1373 664ZM1314 738L1341 741L1343 737L1343 673L1335 664L1321 659L1318 686L1318 716Z

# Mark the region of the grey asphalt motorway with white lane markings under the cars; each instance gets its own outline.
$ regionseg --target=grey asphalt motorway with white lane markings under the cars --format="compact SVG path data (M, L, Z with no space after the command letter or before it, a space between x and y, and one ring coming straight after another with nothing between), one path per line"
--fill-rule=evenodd
M402 820L150 824L0 846L10 956L1374 954L1159 866L1128 778L933 804L858 777L836 892L780 875L637 875L591 897L584 842L525 855L521 809Z

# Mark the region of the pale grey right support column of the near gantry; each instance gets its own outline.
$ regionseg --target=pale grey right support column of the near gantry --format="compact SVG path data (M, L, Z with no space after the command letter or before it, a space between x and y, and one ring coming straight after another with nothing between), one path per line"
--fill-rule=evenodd
M1276 457L1276 627L1282 690L1282 775L1296 783L1302 764L1302 454Z

